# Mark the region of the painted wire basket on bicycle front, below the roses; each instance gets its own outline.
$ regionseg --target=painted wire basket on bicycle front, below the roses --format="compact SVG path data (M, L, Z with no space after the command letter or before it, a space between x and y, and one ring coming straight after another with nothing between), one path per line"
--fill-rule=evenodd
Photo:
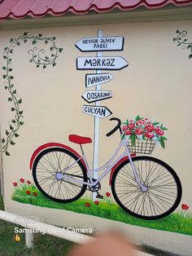
M153 139L136 139L133 146L131 141L128 140L129 152L151 154L156 145L156 141Z

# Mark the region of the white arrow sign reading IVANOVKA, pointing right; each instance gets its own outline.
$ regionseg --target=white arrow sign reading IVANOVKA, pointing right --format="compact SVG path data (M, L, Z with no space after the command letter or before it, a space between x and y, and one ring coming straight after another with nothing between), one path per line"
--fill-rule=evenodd
M102 73L102 74L86 74L85 75L85 86L87 88L91 86L98 86L104 82L109 82L114 76L111 73Z

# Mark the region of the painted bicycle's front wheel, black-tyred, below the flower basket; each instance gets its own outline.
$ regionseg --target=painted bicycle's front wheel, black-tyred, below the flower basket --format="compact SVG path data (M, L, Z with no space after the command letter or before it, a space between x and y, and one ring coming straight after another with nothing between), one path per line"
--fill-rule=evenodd
M164 218L176 210L181 201L181 182L176 172L154 157L133 157L133 164L143 186L134 178L130 161L115 170L111 180L113 196L128 214L143 219Z

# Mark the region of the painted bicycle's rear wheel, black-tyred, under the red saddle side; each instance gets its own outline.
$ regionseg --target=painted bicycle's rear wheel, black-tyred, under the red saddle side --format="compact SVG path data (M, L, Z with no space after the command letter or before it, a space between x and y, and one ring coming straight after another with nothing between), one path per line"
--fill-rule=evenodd
M87 182L87 174L85 166L77 160L75 154L64 148L40 152L33 164L33 179L39 191L52 201L62 203L79 199L87 187L82 183Z

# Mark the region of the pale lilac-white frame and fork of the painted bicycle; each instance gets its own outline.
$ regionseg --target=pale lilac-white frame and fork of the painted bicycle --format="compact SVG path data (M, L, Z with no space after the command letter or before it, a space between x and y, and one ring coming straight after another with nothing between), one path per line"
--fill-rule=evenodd
M81 146L81 145L80 145ZM120 148L124 146L124 152L120 155L120 157L118 157L116 159L116 156L117 154L120 152ZM127 145L127 141L126 139L121 139L120 140L120 143L119 143L119 146L117 147L116 149L116 152L113 154L113 156L111 157L111 159L109 161L107 161L107 164L104 165L104 166L101 166L95 170L90 170L89 169L89 164L86 160L86 157L85 157L85 153L83 151L83 148L81 146L81 152L82 152L82 156L79 157L79 159L77 161L75 161L74 163L72 163L70 166L68 166L65 170L69 170L70 168L72 168L72 166L75 166L76 165L76 162L78 161L81 161L83 160L85 162L85 167L86 167L86 170L87 170L87 174L88 174L88 178L89 178L89 182L85 182L85 181L81 181L81 180L77 180L77 179L73 179L71 177L67 177L67 175L64 175L64 179L65 180L68 180L68 181L72 181L72 182L75 182L75 183L81 183L81 184L86 184L86 185L89 185L89 186L95 186L101 179L103 179L103 177L108 174L108 172L111 170L111 168L113 166L116 166L116 163L118 161L120 161L120 159L122 159L123 157L128 157L129 158L129 161L130 161L130 165L132 166L132 170L133 170L133 175L134 175L134 179L136 180L136 182L139 184L139 186L142 188L142 191L145 191L146 190L146 187L142 184L141 182L141 179L139 178L139 175L138 175L138 172L137 172L137 169L135 167L135 165L133 164L133 161L132 161L132 157L131 157L131 154L129 152L129 148L128 148L128 145ZM116 159L116 160L115 160ZM103 174L101 174L97 180L94 181L94 179L92 178L92 174L94 174L95 172L98 172L98 171L101 171L101 170L104 170L103 171ZM63 173L64 174L64 173Z

